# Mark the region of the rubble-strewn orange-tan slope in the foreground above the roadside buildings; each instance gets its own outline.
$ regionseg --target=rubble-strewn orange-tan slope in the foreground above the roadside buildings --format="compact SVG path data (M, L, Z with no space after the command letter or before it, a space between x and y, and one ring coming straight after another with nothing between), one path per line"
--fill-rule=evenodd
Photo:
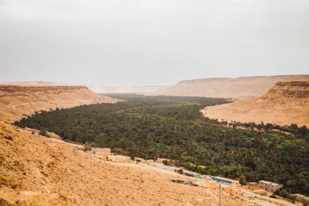
M211 205L202 187L169 182L175 175L104 162L59 140L18 132L0 120L0 203L33 205ZM179 177L176 177L179 179ZM185 179L185 178L184 178ZM225 205L254 205L222 195ZM21 205L25 205L21 204Z

